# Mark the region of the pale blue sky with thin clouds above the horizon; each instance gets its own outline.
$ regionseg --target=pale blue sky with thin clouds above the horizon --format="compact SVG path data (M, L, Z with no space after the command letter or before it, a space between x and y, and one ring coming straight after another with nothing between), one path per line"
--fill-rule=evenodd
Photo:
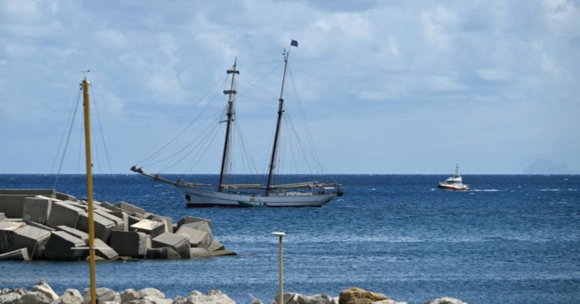
M537 159L578 173L579 21L574 0L0 1L0 174L58 170L82 70L106 142L97 173L130 174L234 58L248 85L291 39L287 91L325 173L521 174ZM263 158L276 106L236 103ZM84 173L76 119L62 173ZM217 173L219 149L165 173Z

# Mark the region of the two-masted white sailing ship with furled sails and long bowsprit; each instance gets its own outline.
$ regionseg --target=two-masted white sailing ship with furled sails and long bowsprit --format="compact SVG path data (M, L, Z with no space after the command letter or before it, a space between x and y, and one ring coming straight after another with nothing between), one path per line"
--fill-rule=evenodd
M277 160L276 156L278 153L278 142L280 141L280 125L285 111L283 98L284 84L288 69L288 56L290 55L290 48L292 46L298 46L296 40L290 42L288 51L285 50L283 54L284 74L282 78L282 87L280 89L280 98L278 98L278 120L274 133L275 135L270 165L268 167L268 180L266 186L263 186L262 184L226 184L227 164L230 159L229 145L231 142L231 123L234 121L234 101L237 94L236 75L239 75L239 70L236 69L236 61L234 61L233 69L227 70L227 74L231 74L231 86L229 90L224 91L224 94L228 96L226 120L224 121L226 122L226 138L224 141L224 152L221 157L221 170L219 173L217 188L214 190L214 188L209 188L212 187L211 184L190 183L183 179L171 181L161 177L160 174L149 174L146 171L143 171L142 168L136 166L131 167L131 171L151 177L156 181L175 186L182 194L187 207L320 207L329 201L332 201L336 196L342 196L344 194L342 186L341 184L336 183L306 181L295 184L273 184L274 169Z

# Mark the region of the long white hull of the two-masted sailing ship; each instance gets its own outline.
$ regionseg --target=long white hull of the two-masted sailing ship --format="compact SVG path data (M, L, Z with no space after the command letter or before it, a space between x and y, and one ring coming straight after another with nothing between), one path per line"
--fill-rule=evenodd
M177 186L177 190L181 192L187 207L320 207L336 197L336 193L289 193L286 195L251 196L248 194L223 193L183 186Z

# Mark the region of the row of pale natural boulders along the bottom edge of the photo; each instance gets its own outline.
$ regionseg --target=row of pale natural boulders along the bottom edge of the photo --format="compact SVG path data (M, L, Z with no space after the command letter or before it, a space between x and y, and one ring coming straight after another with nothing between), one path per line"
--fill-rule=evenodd
M97 288L97 303L106 304L236 304L236 301L229 298L221 291L208 291L201 293L192 291L186 297L177 295L175 298L165 298L165 294L155 288L143 288L136 291L133 288L126 289L121 293L111 291L109 288ZM38 282L30 291L24 288L9 289L0 291L0 304L89 304L89 288L84 288L84 294L74 288L69 288L58 295L50 288L43 279ZM272 304L278 303L276 296ZM263 304L262 300L254 298L251 304ZM361 288L351 287L341 291L338 297L327 294L302 295L300 293L284 293L284 304L407 304L404 301L397 301L382 293L365 291ZM449 297L426 300L425 304L467 304L461 300Z

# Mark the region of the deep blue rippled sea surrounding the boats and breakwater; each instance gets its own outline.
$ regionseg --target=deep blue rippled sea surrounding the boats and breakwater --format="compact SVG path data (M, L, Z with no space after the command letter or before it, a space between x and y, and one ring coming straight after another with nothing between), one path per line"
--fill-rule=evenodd
M181 176L170 176L181 177ZM255 176L239 176L254 179ZM302 176L287 176L300 180ZM94 176L95 199L128 201L178 220L212 220L214 237L237 257L104 261L97 284L152 286L166 295L219 289L238 303L278 293L278 239L285 291L333 296L350 286L424 303L576 303L580 298L580 176L464 175L474 191L436 188L447 176L335 175L346 191L322 208L185 208L171 186L136 175ZM187 176L215 183L217 176ZM52 188L55 176L0 175L1 188ZM58 191L85 196L84 176ZM89 285L85 261L0 263L0 288L40 278L62 293Z

